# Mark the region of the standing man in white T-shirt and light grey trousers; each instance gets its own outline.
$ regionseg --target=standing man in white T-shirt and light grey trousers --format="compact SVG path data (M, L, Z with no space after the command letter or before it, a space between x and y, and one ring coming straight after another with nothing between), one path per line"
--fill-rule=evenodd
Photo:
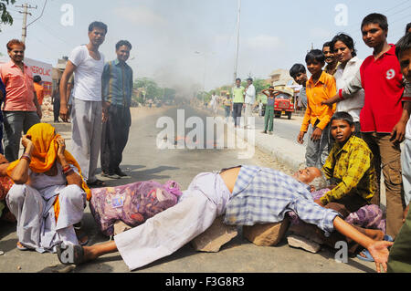
M83 177L90 187L105 185L96 178L96 169L101 144L101 75L104 69L104 56L99 52L99 47L106 34L105 24L90 24L89 44L74 48L68 57L60 82L60 118L67 122L68 79L75 73L71 110L71 152L79 161Z

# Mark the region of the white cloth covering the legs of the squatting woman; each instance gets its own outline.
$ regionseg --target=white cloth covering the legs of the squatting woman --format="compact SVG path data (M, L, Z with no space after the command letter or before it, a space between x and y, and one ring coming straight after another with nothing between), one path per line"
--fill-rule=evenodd
M56 252L59 243L79 244L73 224L81 221L86 193L78 185L52 188L56 194L45 197L31 186L15 184L5 198L16 216L18 241L39 253ZM56 195L60 205L57 223L53 207Z

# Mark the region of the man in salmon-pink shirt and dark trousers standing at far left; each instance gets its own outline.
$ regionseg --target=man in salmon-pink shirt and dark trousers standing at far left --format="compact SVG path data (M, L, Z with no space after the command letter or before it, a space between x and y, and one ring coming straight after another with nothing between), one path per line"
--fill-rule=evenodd
M5 83L5 158L18 159L21 132L40 122L41 108L33 85L33 74L23 60L26 46L17 39L7 43L10 62L0 67L0 78Z

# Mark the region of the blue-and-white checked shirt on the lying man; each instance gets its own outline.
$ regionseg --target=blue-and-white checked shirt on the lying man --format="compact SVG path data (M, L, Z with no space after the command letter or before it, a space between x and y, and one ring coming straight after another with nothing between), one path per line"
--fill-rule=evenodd
M283 172L242 166L232 198L227 203L227 224L278 223L290 211L306 223L317 225L328 236L339 213L314 203L307 185Z

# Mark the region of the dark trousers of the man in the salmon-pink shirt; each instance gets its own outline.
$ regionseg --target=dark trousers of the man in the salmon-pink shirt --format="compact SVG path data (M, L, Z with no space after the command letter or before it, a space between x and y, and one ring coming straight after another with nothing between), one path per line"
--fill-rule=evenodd
M4 111L5 159L16 161L20 150L21 133L26 134L33 125L40 123L36 111Z

